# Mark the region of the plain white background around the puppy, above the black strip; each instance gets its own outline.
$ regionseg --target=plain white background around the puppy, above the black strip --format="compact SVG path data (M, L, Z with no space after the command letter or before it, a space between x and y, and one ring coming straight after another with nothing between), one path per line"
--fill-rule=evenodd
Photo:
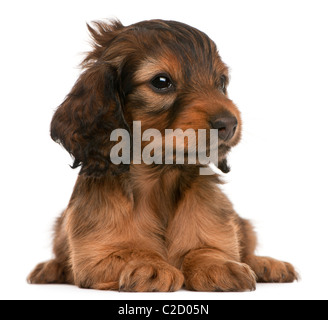
M2 1L0 4L1 299L327 299L327 1ZM206 32L231 68L244 137L224 188L258 231L260 255L302 280L251 293L126 294L32 286L77 176L49 137L55 108L90 47L86 22L179 20Z

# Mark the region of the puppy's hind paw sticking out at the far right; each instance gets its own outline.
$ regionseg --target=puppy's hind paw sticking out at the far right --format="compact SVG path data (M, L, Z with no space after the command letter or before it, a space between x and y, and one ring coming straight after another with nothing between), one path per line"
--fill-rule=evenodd
M288 262L268 257L248 256L245 263L256 273L257 282L291 283L299 278L295 268Z

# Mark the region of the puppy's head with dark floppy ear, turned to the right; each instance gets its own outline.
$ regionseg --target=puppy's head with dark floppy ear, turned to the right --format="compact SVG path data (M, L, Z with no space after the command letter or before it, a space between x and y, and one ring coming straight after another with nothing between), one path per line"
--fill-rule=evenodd
M217 129L222 171L241 136L240 113L227 96L228 70L212 40L190 26L152 20L124 27L96 23L94 50L84 72L57 109L51 136L74 157L81 173L128 170L110 160L114 129Z

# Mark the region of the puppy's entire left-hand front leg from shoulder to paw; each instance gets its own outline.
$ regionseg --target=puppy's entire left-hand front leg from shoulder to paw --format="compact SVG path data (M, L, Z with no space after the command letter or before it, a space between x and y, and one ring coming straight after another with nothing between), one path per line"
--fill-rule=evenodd
M179 290L183 275L166 262L152 213L138 212L119 188L94 189L73 196L65 214L74 283L101 290Z

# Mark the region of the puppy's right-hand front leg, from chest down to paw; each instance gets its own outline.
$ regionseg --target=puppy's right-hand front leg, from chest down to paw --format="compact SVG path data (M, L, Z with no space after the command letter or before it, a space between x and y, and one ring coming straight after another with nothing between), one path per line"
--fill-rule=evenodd
M169 225L169 261L182 270L189 290L254 290L255 273L240 259L236 214L206 179L186 193Z

